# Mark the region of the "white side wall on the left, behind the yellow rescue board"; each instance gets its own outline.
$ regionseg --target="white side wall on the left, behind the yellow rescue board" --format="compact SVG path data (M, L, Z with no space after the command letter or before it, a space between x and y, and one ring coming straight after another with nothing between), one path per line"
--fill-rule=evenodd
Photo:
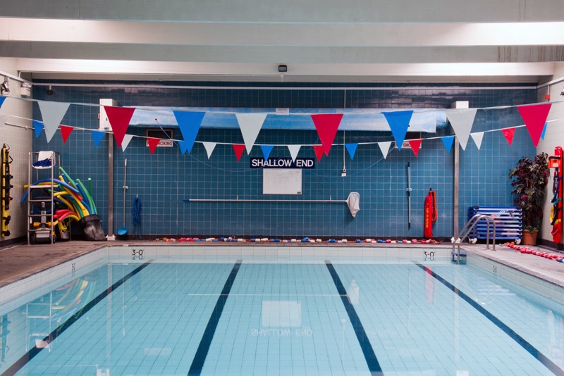
M16 59L0 58L0 71L11 75L18 75L16 70ZM4 80L4 76L0 74L0 79ZM27 158L32 150L32 105L30 101L20 99L20 82L10 80L10 92L0 108L0 114L8 115L6 123L0 124L0 146L7 144L10 146L10 156L13 158L11 163L11 175L13 179L11 183L10 195L13 200L10 203L11 222L9 237L0 237L0 246L3 241L15 239L17 237L26 237L27 228L27 203L20 203L23 195L23 185L27 184Z

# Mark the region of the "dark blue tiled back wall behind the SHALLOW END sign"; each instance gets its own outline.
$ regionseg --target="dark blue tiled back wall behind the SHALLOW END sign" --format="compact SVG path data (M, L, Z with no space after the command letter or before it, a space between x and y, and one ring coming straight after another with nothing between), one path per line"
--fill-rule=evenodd
M64 84L66 82L59 82ZM123 87L132 82L95 82L110 86L92 87L93 82L68 82L54 87L54 94L35 90L35 99L70 102L61 123L97 129L99 99L115 99L118 106L180 106L240 108L450 108L454 101L469 101L477 111L472 132L498 130L522 125L516 108L483 109L534 103L534 87L515 85L429 84L417 88L397 84L365 84L366 89L339 89L352 84L257 84L233 82L165 82L185 86L216 85L217 89ZM84 86L77 86L82 83ZM133 83L135 84L135 83ZM148 82L137 82L148 84ZM115 86L114 86L115 85ZM229 87L233 87L233 89ZM238 89L237 87L276 87L276 89ZM362 84L355 84L362 87ZM287 88L286 88L287 87ZM308 87L309 89L295 89ZM460 87L460 89L458 88ZM41 114L34 104L34 119ZM176 130L175 138L180 139ZM439 128L425 138L450 134ZM129 127L128 134L145 136L143 127ZM345 142L393 141L391 132L338 132L335 144ZM418 137L418 136L415 136ZM239 130L202 129L197 142L243 144ZM315 131L262 130L256 144L320 144ZM333 146L314 170L302 170L302 194L265 196L262 170L250 169L250 157L262 157L259 146L250 156L235 158L231 144L217 144L211 158L202 144L196 143L189 155L178 146L157 148L153 155L145 139L133 137L125 152L104 137L94 147L90 132L75 130L66 143L57 132L47 144L44 134L34 140L34 150L56 150L61 164L73 178L92 178L92 190L104 230L108 232L108 155L114 153L114 233L124 224L129 233L146 235L230 236L237 237L397 237L423 235L424 199L432 187L437 193L439 218L434 224L436 237L453 235L454 151L446 151L441 139L422 142L419 155L410 149L391 149L387 158L377 144L359 145L353 160L345 153L347 176L341 177L343 146ZM110 149L111 148L111 149ZM468 206L511 206L508 170L521 156L533 156L535 148L524 127L517 128L510 146L501 132L486 132L481 149L468 140L460 151L460 227ZM271 157L289 157L286 146L275 146ZM300 157L315 158L312 146L302 146ZM128 160L126 213L123 217L123 175ZM411 166L412 204L407 205L407 163ZM271 199L345 200L350 192L360 193L360 212L350 215L345 203L281 202L188 202L186 199ZM135 196L142 201L140 228L131 223ZM408 225L411 219L411 226ZM76 230L76 229L75 229Z

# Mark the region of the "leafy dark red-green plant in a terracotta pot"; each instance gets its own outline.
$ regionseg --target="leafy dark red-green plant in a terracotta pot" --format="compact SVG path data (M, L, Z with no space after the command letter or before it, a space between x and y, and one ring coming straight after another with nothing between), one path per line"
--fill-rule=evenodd
M537 243L537 233L543 216L545 188L550 176L547 157L546 153L538 154L534 160L522 157L509 171L509 178L513 179L511 193L517 195L514 202L517 208L522 210L523 244ZM526 239L529 234L533 239Z

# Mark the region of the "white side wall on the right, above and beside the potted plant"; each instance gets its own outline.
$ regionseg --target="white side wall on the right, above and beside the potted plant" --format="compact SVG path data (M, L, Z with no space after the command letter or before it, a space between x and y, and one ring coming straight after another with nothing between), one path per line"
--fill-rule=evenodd
M558 80L564 77L564 63L556 63L554 69L554 76L552 80ZM562 89L564 88L564 80L556 84L552 84L550 88L544 87L539 90L539 102L545 101L544 95L550 94L551 111L548 113L548 126L546 127L546 134L544 140L539 142L537 147L537 152L545 152L548 156L554 155L554 148L556 146L562 146L564 148L564 96L560 95ZM551 170L551 175L554 170ZM564 183L564 182L563 182ZM549 213L551 212L551 199L553 197L552 193L552 176L548 182L548 187L546 188L546 201L544 203L544 219L541 227L540 237L544 240L552 241L552 226L549 220ZM564 243L563 240L560 243Z

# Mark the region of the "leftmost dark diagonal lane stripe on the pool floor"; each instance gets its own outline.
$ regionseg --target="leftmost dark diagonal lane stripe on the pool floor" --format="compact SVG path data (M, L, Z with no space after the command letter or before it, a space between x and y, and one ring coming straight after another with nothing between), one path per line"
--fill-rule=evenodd
M125 275L123 278L121 278L121 280L118 280L116 283L112 284L110 287L108 287L108 289L106 289L106 291L100 293L98 296L92 299L82 309L80 309L80 311L78 311L70 318L68 318L68 320L66 320L61 325L59 325L59 327L57 327L56 330L51 332L51 334L49 334L43 340L46 341L48 344L50 344L52 341L56 339L56 337L59 337L61 334L63 334L63 332L68 329L68 327L73 325L79 318L85 315L85 313L90 311L92 307L96 306L97 303L102 301L102 299L104 299L106 296L111 294L111 292L113 292L115 289L120 287L125 281L129 280L131 277L133 277L138 272L146 268L152 262L153 262L152 260L147 261L143 265L140 265L138 268L130 272L128 275ZM24 365L26 365L29 361L31 361L39 353L39 351L42 350L43 348L38 349L35 346L32 347L32 349L30 349L30 351L27 351L27 353L25 353L21 358L19 358L18 361L16 361L16 363L13 363L13 365L11 365L10 368L8 368L2 374L2 376L16 375L16 372L18 372L21 368L23 368Z

